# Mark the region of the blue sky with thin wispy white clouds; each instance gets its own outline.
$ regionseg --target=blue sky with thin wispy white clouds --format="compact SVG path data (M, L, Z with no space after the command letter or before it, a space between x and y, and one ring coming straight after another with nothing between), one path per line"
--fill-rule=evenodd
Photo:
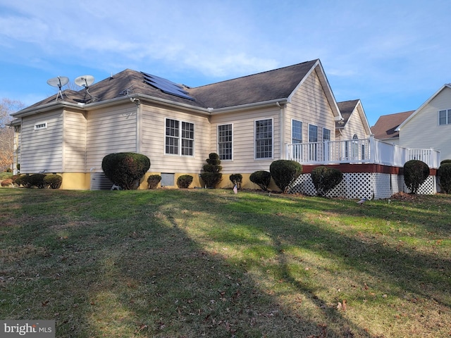
M451 82L449 0L0 0L0 99L126 68L197 87L319 58L369 124Z

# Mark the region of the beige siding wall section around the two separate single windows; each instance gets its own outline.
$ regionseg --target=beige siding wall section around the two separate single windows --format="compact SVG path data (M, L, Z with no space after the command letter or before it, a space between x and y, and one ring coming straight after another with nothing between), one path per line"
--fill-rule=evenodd
M273 158L255 158L255 121L273 120ZM274 105L240 113L224 113L211 117L211 151L218 152L218 125L233 124L233 161L222 161L223 173L254 173L269 170L271 162L280 159L280 109Z

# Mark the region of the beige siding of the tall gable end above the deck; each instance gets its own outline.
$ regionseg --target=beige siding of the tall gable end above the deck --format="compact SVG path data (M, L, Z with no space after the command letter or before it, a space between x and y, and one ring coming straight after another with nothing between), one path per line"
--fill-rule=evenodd
M302 142L309 142L309 124L318 126L318 141L323 140L323 127L330 130L330 139L335 139L335 120L332 108L324 93L316 71L312 72L285 108L284 143L292 142L292 120L302 122Z

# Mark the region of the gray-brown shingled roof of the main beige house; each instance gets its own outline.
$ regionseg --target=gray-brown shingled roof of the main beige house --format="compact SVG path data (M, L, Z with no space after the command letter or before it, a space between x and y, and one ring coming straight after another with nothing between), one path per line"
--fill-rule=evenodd
M72 104L78 102L90 103L116 99L127 94L142 94L199 108L225 108L288 99L317 61L298 63L201 87L184 86L183 89L194 100L162 92L144 82L143 73L126 69L100 82L95 82L89 86L89 93L85 88L79 91L64 90L63 101ZM56 103L56 96L56 94L50 96L25 109L29 111L30 108ZM61 99L59 102L62 102Z

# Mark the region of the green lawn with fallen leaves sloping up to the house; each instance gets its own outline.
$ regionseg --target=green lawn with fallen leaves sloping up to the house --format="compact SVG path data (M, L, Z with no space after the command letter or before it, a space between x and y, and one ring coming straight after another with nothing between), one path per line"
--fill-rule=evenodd
M56 337L450 337L451 196L0 189L0 318Z

